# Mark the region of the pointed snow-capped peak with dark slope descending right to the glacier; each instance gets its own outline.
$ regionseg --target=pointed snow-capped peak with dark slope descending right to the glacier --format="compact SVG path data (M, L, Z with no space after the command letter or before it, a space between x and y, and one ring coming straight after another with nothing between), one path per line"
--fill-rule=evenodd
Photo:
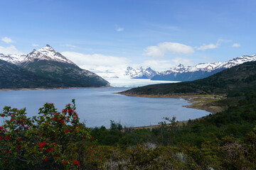
M88 70L80 69L50 45L33 50L18 65L41 77L59 81L70 87L109 86L105 79Z

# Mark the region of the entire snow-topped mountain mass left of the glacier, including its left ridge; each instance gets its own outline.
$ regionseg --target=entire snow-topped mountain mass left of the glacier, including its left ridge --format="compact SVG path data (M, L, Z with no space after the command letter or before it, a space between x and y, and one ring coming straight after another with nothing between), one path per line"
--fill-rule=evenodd
M81 69L46 45L28 55L0 54L0 88L68 88L109 86L97 74Z

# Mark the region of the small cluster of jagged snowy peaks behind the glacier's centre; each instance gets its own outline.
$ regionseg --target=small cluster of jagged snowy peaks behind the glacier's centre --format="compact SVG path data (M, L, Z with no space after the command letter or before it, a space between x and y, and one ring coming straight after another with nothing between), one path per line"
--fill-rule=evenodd
M154 69L151 69L150 67L147 67L146 69L143 69L142 67L139 69L127 67L127 70L125 71L125 76L132 79L151 79L156 74L158 74L158 72L154 71Z

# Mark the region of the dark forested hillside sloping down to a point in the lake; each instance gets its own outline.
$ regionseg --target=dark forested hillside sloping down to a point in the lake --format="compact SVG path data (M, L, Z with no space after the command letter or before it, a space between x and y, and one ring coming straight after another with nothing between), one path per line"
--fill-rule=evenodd
M121 94L127 95L174 95L174 94L228 94L246 87L256 86L256 62L246 62L225 69L205 79L177 84L142 86Z

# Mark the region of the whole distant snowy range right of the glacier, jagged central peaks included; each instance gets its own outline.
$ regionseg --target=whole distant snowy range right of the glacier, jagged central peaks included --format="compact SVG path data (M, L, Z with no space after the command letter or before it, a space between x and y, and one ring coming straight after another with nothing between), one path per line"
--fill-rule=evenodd
M166 70L165 72L156 72L149 68L134 69L127 67L125 75L132 79L151 79L151 80L166 80L166 81L193 81L196 79L203 79L213 75L223 69L228 69L244 62L256 61L256 55L243 55L241 57L234 58L228 62L213 62L213 63L200 63L196 66L184 66L179 64L173 69ZM149 70L149 72L146 72Z

